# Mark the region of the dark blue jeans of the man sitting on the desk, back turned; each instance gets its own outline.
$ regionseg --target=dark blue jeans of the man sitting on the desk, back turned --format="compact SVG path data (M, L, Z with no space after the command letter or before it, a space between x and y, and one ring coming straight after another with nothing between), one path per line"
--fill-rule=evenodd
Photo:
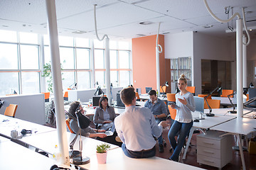
M149 158L154 157L156 154L156 147L146 151L134 152L126 148L125 144L122 144L122 150L127 157L130 158Z

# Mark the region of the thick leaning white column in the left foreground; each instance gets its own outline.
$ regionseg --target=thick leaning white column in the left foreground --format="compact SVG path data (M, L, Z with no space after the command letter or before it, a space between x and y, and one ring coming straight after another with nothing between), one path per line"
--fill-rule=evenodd
M53 74L53 93L58 131L58 148L60 149L61 154L60 163L69 165L55 0L46 0L46 9L48 16L48 34L50 36L50 59L51 71Z

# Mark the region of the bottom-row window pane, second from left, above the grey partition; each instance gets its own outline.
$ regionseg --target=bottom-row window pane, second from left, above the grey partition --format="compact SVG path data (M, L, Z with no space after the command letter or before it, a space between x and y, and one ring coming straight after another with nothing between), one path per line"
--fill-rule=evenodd
M39 72L21 72L22 94L40 93Z

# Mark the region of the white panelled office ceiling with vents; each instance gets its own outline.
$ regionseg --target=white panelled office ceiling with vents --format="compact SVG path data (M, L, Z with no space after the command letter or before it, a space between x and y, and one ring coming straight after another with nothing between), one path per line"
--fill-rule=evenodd
M96 38L97 32L112 40L129 40L145 35L198 31L221 38L235 39L235 33L225 33L228 23L219 23L210 16L203 0L55 0L59 35ZM227 19L225 7L242 17L245 8L247 28L254 28L250 36L256 38L255 0L208 0L210 9L218 18ZM232 10L229 14L231 16ZM237 17L236 17L237 18ZM236 19L235 18L235 19ZM229 23L235 29L235 19ZM139 23L151 23L142 25ZM47 34L45 0L1 0L0 29ZM84 33L75 33L82 31Z

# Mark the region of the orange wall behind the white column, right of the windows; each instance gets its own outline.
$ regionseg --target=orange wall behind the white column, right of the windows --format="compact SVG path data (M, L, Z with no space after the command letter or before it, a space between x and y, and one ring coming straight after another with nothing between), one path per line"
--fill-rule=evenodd
M163 85L169 81L166 77L164 35L159 35L159 44L163 48L159 55L160 85ZM156 89L156 35L132 39L132 70L134 88L142 88L142 94L146 93L146 86Z

